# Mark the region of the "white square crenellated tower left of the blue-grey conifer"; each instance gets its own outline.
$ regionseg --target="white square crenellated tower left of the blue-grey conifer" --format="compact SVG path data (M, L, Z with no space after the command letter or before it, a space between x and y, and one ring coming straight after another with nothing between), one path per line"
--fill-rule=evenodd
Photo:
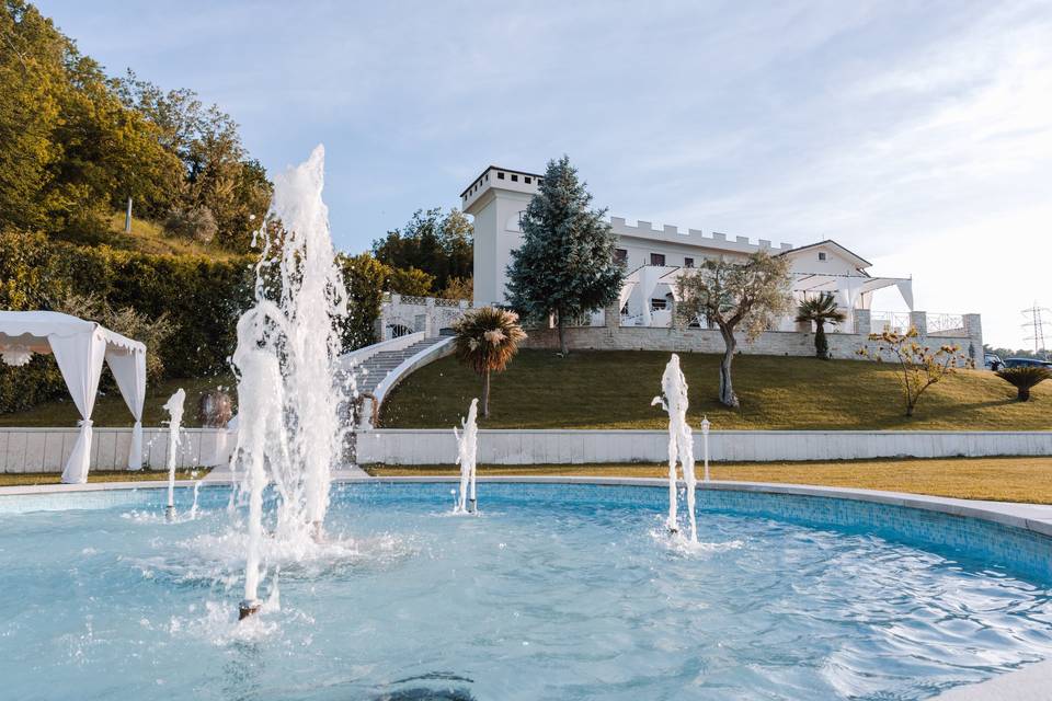
M474 217L474 303L507 301L507 265L523 241L518 218L542 177L490 165L460 193L460 207Z

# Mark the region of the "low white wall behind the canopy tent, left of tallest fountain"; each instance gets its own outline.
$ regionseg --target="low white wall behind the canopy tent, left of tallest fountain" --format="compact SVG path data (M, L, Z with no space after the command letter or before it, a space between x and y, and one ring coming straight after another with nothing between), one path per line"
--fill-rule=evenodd
M61 472L77 441L78 428L0 428L0 472ZM176 467L215 467L226 461L237 440L220 428L180 432ZM92 429L90 470L126 470L132 428ZM142 467L168 468L168 428L142 429Z

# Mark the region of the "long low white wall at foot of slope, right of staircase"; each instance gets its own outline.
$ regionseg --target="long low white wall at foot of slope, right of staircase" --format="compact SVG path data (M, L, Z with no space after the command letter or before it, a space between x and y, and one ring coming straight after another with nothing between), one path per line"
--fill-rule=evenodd
M695 430L700 463L701 433ZM453 430L380 429L357 434L362 464L453 464ZM480 430L482 464L662 462L665 430ZM709 434L713 461L857 460L1052 455L1052 432L719 430Z

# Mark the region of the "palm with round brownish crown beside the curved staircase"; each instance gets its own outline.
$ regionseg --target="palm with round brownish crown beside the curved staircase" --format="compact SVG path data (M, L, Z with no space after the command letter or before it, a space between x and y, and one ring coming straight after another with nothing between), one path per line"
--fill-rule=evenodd
M482 416L490 415L490 372L503 372L526 337L518 314L495 307L471 309L454 324L457 359L482 376Z

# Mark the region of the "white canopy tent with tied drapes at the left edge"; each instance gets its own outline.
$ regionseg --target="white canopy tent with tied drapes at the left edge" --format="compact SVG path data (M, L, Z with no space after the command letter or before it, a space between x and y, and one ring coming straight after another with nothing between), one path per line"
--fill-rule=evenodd
M91 412L102 364L110 365L121 395L135 417L128 469L142 467L142 404L146 401L146 346L138 341L69 314L54 311L0 311L0 359L25 365L34 353L55 355L58 369L80 412L80 434L62 471L62 482L88 481Z

